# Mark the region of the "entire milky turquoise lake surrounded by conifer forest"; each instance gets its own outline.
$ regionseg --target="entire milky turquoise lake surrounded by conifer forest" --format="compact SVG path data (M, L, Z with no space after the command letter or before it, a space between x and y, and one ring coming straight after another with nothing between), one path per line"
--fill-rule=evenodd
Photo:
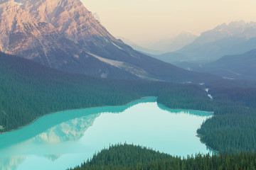
M117 143L186 157L210 150L196 130L211 113L169 109L155 97L125 106L61 111L0 135L0 169L65 170Z

